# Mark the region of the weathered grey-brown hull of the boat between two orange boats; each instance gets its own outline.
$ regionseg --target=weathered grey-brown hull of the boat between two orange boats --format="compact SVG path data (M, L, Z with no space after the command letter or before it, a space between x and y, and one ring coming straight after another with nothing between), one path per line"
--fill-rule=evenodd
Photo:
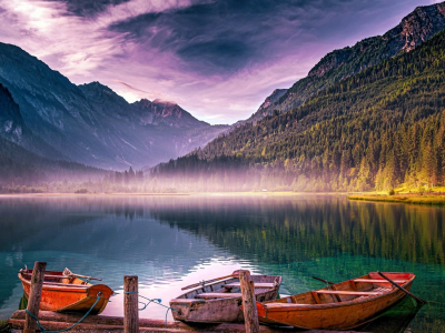
M256 290L256 300L259 302L275 300L278 294L279 284L281 282L280 276L269 275L251 275L255 282L265 283L273 282L277 279L278 283L274 289L260 289ZM233 280L226 281L225 283L233 282ZM178 299L170 301L170 307L176 311L171 311L174 319L185 322L196 323L236 323L244 322L244 313L240 309L243 297L230 297L230 299L214 299L214 300L199 300L194 299L194 295L198 295L199 292L207 292L208 289L217 290L220 286L220 282L207 285L205 290L196 290L186 293ZM185 297L187 295L187 299Z

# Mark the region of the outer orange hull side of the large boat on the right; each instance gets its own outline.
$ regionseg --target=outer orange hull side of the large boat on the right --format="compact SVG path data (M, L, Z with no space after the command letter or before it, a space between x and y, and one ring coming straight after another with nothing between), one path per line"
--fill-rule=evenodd
M403 286L409 290L414 278ZM399 289L376 296L327 304L257 303L258 319L266 324L281 324L305 330L350 330L385 312L406 294Z

